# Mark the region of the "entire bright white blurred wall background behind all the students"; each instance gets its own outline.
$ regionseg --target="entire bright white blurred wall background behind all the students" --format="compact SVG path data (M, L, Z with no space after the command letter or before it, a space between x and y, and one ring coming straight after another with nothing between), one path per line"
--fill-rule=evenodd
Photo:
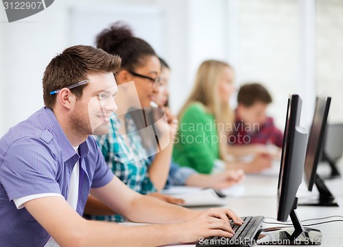
M293 93L303 99L304 127L316 95L332 96L329 122L343 122L341 0L58 0L14 23L0 7L0 136L43 107L51 58L74 44L94 45L115 21L131 25L171 66L174 113L201 62L217 59L235 68L237 88L248 81L268 88L268 112L280 129Z

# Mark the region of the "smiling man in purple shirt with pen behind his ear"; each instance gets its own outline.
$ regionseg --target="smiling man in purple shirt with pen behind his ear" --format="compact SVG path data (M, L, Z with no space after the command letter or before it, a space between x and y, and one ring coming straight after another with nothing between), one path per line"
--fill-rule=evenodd
M117 110L120 58L75 46L45 69L45 107L0 139L1 246L163 246L232 237L230 209L193 211L143 196L108 169L93 137ZM84 220L88 194L133 222ZM185 234L187 233L187 234Z

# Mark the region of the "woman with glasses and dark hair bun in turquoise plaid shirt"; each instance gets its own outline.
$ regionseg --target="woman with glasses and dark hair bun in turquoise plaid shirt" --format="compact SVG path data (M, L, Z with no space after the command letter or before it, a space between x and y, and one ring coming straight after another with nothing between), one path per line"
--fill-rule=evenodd
M135 116L132 116L132 113L137 112L139 115L142 113L141 109L150 107L159 90L161 63L154 49L141 38L134 37L130 27L121 23L115 23L109 29L104 29L97 36L96 43L97 48L119 55L122 61L121 68L115 75L119 88L117 97L121 97L121 99L117 98L119 102L117 116L110 119L110 131L107 135L95 137L108 166L132 190L141 194L152 194L170 203L182 203L182 200L155 193L161 190L167 181L177 127L172 123L174 117L167 115L167 122L164 125L163 122L158 123L160 133L156 135L159 138L158 148L161 149L153 152L156 155L151 161L150 153L143 148L142 136L139 134L144 132L144 129L139 131L137 119L135 122ZM138 104L135 102L134 94L138 97ZM133 115L137 116L137 114ZM146 119L140 118L139 122L145 124ZM150 133L152 135L149 138L156 142L154 133ZM106 207L100 212L92 211L96 203L95 198L89 198L86 213L101 215L110 213ZM97 219L123 220L121 216L116 215L98 216Z

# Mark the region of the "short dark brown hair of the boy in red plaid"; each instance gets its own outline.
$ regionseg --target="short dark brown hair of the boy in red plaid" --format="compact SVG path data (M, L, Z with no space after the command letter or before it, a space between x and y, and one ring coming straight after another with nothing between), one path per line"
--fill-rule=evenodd
M272 102L272 96L260 83L247 83L239 88L237 101L246 107L250 107L257 102L268 105Z

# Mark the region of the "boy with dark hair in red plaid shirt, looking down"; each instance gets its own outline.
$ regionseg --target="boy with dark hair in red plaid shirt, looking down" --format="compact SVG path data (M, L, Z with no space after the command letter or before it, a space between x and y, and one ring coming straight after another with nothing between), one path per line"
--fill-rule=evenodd
M279 147L274 148L274 153L281 153L283 133L265 113L272 103L268 90L260 83L247 83L239 89L237 101L235 128L228 138L229 152L234 155L268 153L268 147L274 146Z

